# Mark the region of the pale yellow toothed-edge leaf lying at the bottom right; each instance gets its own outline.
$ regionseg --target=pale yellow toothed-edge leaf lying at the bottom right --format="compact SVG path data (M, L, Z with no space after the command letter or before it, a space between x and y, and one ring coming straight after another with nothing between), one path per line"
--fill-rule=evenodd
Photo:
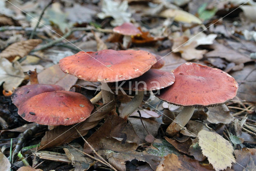
M235 162L232 145L218 133L201 130L198 138L203 155L217 171L231 167Z

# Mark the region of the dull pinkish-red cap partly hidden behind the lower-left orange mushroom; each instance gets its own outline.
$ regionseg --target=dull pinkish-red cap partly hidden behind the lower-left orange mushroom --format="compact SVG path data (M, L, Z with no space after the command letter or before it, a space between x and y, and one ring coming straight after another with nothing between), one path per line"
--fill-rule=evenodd
M60 85L50 85L50 84L30 84L24 85L22 87L18 87L12 93L11 99L12 103L19 107L21 103L33 97L34 95L38 95L44 92L56 91L56 90L64 90Z

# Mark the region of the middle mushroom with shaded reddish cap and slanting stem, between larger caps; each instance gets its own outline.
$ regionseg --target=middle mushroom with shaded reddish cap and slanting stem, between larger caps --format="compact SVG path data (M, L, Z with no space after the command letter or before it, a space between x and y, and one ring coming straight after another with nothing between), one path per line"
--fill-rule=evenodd
M157 69L150 69L148 72L138 78L128 80L128 82L119 82L123 89L136 91L136 95L122 110L120 117L127 119L141 104L144 91L162 89L172 85L175 81L172 72L165 72ZM117 86L116 86L117 87Z

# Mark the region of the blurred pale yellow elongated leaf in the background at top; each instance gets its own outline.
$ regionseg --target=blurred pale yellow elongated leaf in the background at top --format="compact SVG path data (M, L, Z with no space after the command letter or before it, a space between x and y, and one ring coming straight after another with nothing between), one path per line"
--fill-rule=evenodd
M193 14L178 9L167 9L159 15L164 18L174 18L177 22L202 24L202 21Z

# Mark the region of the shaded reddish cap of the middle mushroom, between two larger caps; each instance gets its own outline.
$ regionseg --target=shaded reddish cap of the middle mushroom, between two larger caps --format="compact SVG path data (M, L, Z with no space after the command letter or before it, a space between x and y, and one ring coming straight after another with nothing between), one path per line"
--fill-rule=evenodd
M133 91L150 91L168 87L172 85L174 81L175 78L172 72L150 69L138 78L127 80L121 87L126 90L132 89ZM118 82L118 85L121 84L122 82ZM113 83L111 88L114 89L114 86Z

